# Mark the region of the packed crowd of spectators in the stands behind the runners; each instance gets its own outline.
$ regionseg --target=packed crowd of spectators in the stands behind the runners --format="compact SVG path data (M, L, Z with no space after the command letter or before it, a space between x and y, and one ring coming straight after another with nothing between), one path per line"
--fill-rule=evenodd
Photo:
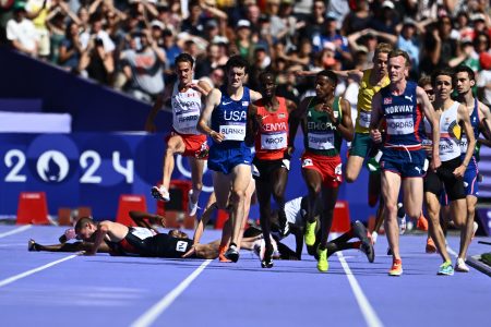
M3 45L145 101L175 78L180 52L212 86L240 53L251 63L251 88L270 69L277 94L298 102L312 83L295 72L369 68L383 41L410 55L411 80L469 65L491 105L484 0L5 0L0 25ZM350 81L337 89L354 106L357 92Z

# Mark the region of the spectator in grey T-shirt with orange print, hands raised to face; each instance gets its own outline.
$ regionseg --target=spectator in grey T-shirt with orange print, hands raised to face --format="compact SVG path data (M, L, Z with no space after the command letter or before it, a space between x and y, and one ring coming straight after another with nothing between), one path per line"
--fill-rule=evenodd
M128 78L125 90L137 99L155 101L164 90L165 62L165 52L151 39L149 31L134 33L130 49L121 53L122 72Z

